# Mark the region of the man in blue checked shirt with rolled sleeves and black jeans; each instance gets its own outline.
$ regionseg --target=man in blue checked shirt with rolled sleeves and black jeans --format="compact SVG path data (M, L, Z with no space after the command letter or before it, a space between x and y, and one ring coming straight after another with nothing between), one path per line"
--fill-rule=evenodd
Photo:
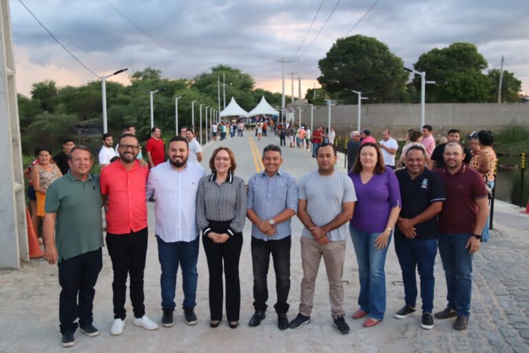
M251 259L253 263L253 307L249 326L261 323L267 310L267 274L272 255L276 270L278 327L289 325L287 299L290 291L290 219L298 211L298 186L288 173L279 170L283 159L277 145L267 145L262 152L264 171L248 181L247 216L251 225Z

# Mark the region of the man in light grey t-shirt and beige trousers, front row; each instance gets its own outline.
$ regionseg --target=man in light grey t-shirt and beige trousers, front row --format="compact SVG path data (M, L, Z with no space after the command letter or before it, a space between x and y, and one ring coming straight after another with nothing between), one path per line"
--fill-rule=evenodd
M323 257L329 281L329 300L334 327L340 334L351 330L344 317L344 273L347 222L353 217L356 193L353 181L335 170L338 159L336 148L322 143L318 150L318 169L304 174L298 188L298 218L304 228L301 233L300 312L289 323L297 329L311 322L314 288L320 261Z

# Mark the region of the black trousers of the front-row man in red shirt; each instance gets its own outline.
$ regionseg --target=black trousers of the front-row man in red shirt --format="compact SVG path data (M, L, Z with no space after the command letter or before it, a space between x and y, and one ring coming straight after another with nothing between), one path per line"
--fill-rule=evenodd
M130 301L134 317L145 315L143 300L143 271L147 256L147 228L129 234L107 233L107 248L112 259L114 281L112 292L114 303L114 319L125 319L125 298L127 294L127 275L130 276Z

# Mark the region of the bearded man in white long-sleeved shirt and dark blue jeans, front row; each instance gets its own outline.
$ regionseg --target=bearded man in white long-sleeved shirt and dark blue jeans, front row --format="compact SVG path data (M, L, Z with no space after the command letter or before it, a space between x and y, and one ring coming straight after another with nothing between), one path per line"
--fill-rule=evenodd
M189 134L189 129L187 133ZM162 325L171 327L176 306L176 272L182 267L184 301L182 307L187 325L196 324L196 283L198 274L199 231L196 225L196 192L198 181L205 176L198 163L187 163L189 145L181 136L169 141L169 160L153 168L147 179L147 196L154 196L158 260L162 268Z

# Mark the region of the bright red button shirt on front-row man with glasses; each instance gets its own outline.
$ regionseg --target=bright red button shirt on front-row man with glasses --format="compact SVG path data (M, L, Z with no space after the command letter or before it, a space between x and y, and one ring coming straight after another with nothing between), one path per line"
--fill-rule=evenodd
M149 168L134 161L126 170L119 161L101 170L101 194L108 195L107 232L129 234L147 227L147 196L145 185Z

